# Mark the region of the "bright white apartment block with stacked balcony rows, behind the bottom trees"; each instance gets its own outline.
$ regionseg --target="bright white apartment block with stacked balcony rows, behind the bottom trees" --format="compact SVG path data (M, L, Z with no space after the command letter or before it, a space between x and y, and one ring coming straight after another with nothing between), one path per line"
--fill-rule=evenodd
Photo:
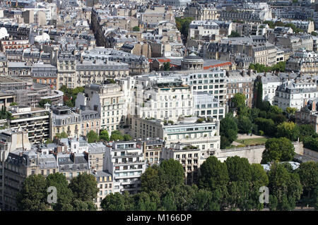
M141 174L146 170L141 145L134 141L112 142L106 149L107 171L112 174L114 193L134 194L141 189Z

